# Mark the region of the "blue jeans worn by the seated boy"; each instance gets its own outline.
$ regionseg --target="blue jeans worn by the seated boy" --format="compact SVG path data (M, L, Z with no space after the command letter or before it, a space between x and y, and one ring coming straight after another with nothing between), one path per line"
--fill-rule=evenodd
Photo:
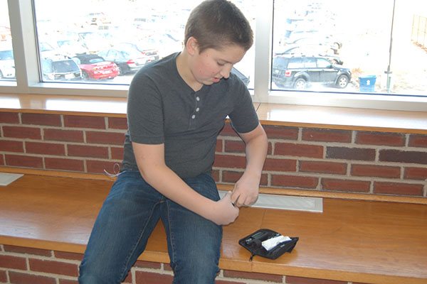
M201 195L219 200L210 175L184 181ZM102 205L80 264L79 283L125 280L160 218L167 234L173 283L215 283L222 226L168 200L137 171L120 174Z

